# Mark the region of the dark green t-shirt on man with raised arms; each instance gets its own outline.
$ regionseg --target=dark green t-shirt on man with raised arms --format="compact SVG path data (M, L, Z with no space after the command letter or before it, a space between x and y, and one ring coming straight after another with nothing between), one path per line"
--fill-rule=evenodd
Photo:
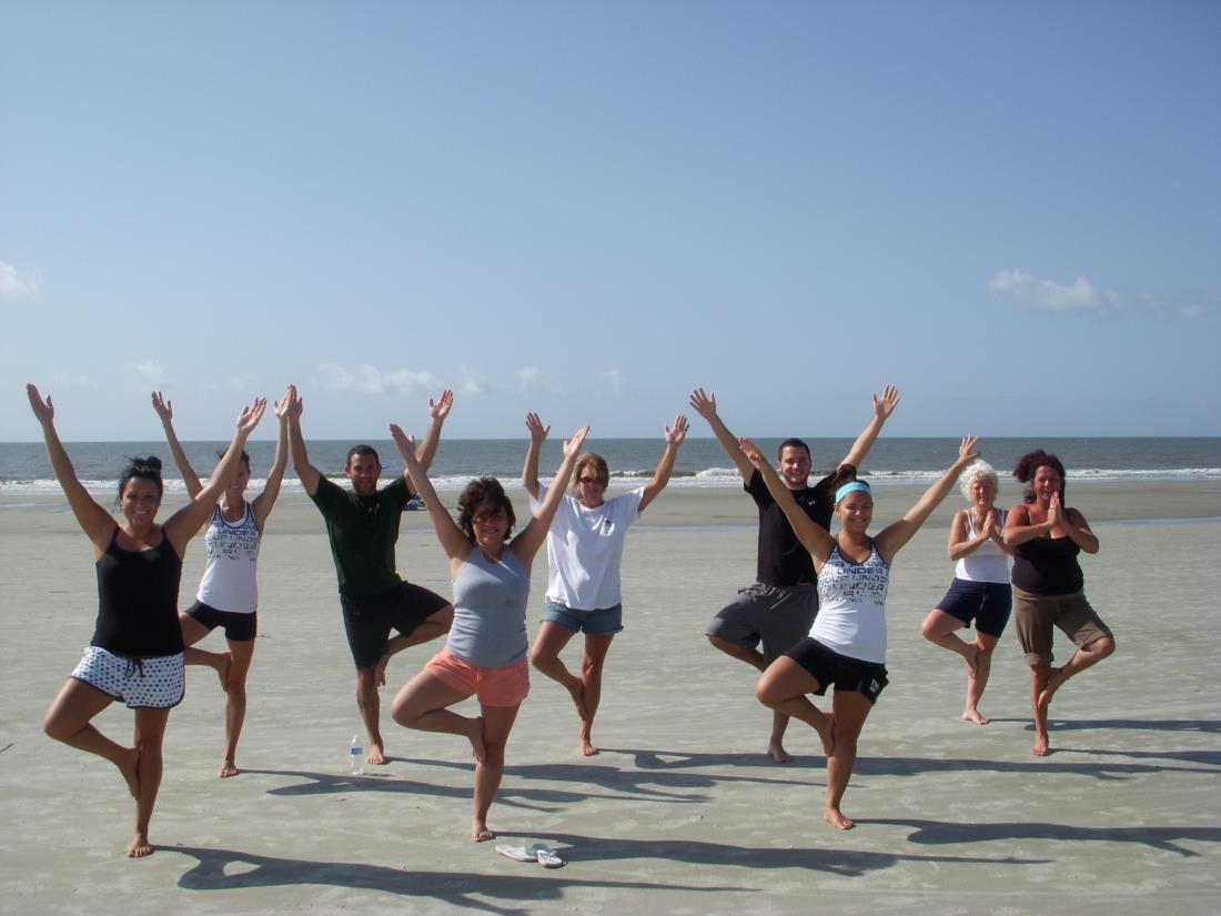
M411 498L407 478L399 476L372 496L358 496L319 478L310 498L326 520L341 595L380 595L402 581L394 570L394 543L403 507Z

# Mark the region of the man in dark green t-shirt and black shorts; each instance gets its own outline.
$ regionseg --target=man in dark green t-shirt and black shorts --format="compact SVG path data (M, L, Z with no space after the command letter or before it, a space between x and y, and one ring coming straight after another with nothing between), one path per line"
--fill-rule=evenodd
M432 424L419 449L425 469L436 454L441 427L452 405L453 392L448 390L436 402L429 399ZM381 460L371 446L360 445L348 449L343 469L352 490L336 486L309 463L300 416L300 396L295 386L289 386L288 441L293 468L326 522L339 580L343 627L357 664L357 703L369 732L369 762L381 765L386 762L386 745L379 722L377 688L386 683L386 666L392 655L408 646L448 633L454 609L436 592L400 579L394 568L399 519L414 492L407 473L379 490ZM398 631L393 638L392 629Z

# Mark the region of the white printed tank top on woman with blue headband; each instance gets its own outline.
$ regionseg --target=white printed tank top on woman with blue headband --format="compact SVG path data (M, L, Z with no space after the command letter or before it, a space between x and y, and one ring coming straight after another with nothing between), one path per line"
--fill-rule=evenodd
M818 573L818 616L810 635L849 658L885 664L890 570L869 543L869 558L851 563L839 545Z

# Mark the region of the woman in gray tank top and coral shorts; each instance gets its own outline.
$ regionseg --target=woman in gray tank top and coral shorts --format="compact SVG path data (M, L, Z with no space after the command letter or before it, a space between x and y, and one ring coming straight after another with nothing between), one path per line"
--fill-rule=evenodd
M529 692L526 663L526 600L530 565L547 540L563 486L552 486L534 517L514 537L513 503L495 478L471 481L458 500L454 522L441 504L415 456L415 440L397 425L391 435L429 511L429 520L449 558L454 584L454 622L449 639L391 703L394 721L422 732L465 735L475 756L475 806L471 839L496 837L487 811L504 774L504 746ZM556 480L568 480L589 426L564 442L564 460ZM477 695L480 716L462 716L449 707Z

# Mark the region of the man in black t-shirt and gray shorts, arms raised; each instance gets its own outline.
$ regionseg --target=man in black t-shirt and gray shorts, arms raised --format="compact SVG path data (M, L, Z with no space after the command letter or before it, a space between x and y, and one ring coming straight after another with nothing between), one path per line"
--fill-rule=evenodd
M886 418L899 404L899 391L888 385L882 398L873 396L873 418L864 427L840 465L858 468L869 453ZM758 567L756 581L740 589L737 598L708 624L708 641L722 652L763 671L810 633L818 613L818 576L808 551L801 546L784 512L759 473L737 445L737 438L717 415L717 397L703 388L691 392L691 409L708 421L717 441L742 475L742 485L759 512ZM818 525L830 530L835 508L835 492L829 475L810 486L810 446L800 438L788 438L780 445L778 471L797 504ZM759 651L762 646L762 651ZM792 757L784 749L784 732L789 717L773 712L772 736L767 752L777 763L789 763Z

